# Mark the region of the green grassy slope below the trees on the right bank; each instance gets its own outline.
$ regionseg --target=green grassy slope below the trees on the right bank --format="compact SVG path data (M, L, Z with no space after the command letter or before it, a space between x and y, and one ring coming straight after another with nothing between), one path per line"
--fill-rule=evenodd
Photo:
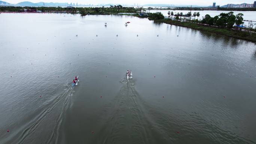
M149 20L152 20L152 19L149 19ZM196 24L192 22L172 21L171 19L158 19L158 20L154 20L154 22L163 22L165 24L193 28L195 30L207 31L211 33L221 34L228 37L234 37L237 39L248 40L250 42L256 43L256 33L252 33L252 36L250 36L249 32L246 32L246 31L231 30L228 28L210 27L210 26Z

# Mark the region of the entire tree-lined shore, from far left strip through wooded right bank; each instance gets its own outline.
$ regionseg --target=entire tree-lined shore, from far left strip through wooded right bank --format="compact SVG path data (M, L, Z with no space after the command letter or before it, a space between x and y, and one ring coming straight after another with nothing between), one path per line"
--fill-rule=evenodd
M164 22L166 24L177 25L181 27L189 27L196 30L208 31L216 34L222 34L238 39L249 40L256 42L256 23L249 22L247 28L234 27L234 24L243 24L243 13L234 15L233 12L220 13L217 16L210 15L202 16L203 19L198 20L199 12L186 14L168 12L168 17L165 18L161 12L146 13L142 7L0 7L0 12L48 12L48 13L80 13L81 16L86 15L132 15L139 18L148 18L155 22ZM183 17L183 18L182 18ZM196 19L197 17L197 19Z

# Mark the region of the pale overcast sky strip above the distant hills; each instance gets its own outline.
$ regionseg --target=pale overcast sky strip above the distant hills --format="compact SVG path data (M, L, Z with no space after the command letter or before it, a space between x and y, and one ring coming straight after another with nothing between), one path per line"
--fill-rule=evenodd
M79 4L108 4L108 3L118 3L118 4L185 4L185 5L200 5L200 6L210 6L213 2L216 5L225 5L228 3L241 4L241 3L253 3L253 0L1 0L8 3L19 3L21 1L31 1L36 2L58 2L58 3L79 3Z

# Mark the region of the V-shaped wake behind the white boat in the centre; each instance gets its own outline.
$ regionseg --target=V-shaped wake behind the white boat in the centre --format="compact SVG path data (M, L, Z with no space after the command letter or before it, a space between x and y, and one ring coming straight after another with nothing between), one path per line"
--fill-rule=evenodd
M146 119L143 101L134 88L134 80L122 79L122 88L107 110L103 111L104 124L100 130L103 137L94 142L102 144L147 144L152 138L150 123ZM107 134L107 135L106 135ZM152 143L152 140L150 140Z

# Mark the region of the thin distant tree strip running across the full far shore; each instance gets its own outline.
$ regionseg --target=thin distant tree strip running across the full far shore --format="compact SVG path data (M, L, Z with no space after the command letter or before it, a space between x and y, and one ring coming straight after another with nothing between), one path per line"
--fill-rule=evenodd
M115 5L110 7L31 7L31 6L0 6L0 12L22 12L22 9L29 10L39 10L42 12L69 12L69 13L77 13L86 12L86 13L139 13L146 12L147 10L223 10L223 11L256 11L256 8L227 8L227 7L165 7L165 8L153 8L153 7L123 7L122 5Z

